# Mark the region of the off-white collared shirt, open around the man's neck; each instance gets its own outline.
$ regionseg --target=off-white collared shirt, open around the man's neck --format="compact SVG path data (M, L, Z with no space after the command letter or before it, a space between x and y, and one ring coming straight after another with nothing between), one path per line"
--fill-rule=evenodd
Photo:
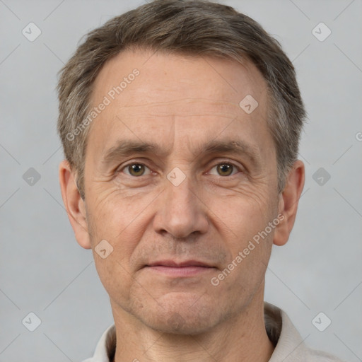
M275 305L264 302L264 319L268 337L275 346L269 362L342 362L330 354L308 348L288 315ZM94 356L83 362L111 362L115 342L115 325L111 325L100 337Z

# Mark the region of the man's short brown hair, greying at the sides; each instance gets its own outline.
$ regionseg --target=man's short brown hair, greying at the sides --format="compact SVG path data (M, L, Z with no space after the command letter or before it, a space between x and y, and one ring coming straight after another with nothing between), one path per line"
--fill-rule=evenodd
M58 132L84 197L88 128L74 137L90 109L93 82L103 64L124 49L143 49L250 61L268 86L267 124L276 146L279 191L298 156L305 109L293 64L252 18L206 0L155 0L88 33L61 70ZM73 134L73 136L69 136Z

